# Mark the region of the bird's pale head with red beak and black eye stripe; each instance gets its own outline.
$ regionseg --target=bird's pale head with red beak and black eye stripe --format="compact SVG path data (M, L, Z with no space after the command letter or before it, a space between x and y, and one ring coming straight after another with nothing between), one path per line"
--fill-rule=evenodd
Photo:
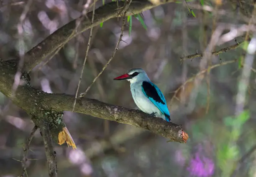
M119 77L115 77L114 80L128 80L131 83L149 80L147 73L141 68L133 68L128 70L128 72L124 75L120 75Z

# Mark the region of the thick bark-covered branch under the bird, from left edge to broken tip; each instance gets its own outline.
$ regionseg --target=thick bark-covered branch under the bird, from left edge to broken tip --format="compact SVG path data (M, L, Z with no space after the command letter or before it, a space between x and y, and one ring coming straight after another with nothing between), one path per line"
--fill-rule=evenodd
M7 97L11 95L10 88L12 87L14 75L15 67L12 63L0 62L0 92ZM64 125L58 114L62 111L72 111L74 96L49 94L36 90L30 85L24 85L19 86L15 97L10 97L10 99L28 114L33 115L32 120L36 125L40 126L40 121L48 120L51 124L56 122L52 127L58 125L59 128L56 131L61 131ZM52 111L57 112L57 116L51 116L48 119L45 114ZM140 127L176 142L186 142L188 138L182 126L166 122L161 118L149 117L148 114L139 110L130 110L89 98L78 98L74 112Z

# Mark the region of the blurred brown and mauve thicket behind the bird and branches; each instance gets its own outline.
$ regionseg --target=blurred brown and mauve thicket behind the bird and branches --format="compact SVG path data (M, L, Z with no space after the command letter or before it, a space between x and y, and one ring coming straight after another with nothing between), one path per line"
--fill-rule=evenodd
M79 17L86 3L86 0L0 0L0 58L19 56L20 48L30 50ZM244 40L250 41L256 31L254 17L251 18L253 3L253 0L188 0L187 3L180 0L143 12L145 25L131 17L132 23L125 26L114 59L86 97L137 109L129 83L113 78L141 67L164 93L172 110L172 122L184 126L189 140L186 144L167 142L164 137L130 125L64 112L63 120L77 150L54 143L58 175L256 177L256 70L253 69L256 66L248 64L251 61L246 54L248 42L237 47ZM97 1L96 7L101 5L102 1ZM110 59L121 26L121 18L115 18L93 29L79 93L87 89ZM21 33L18 27L22 27ZM49 62L35 67L31 73L33 87L75 95L89 32L74 37ZM229 46L236 49L180 60L186 55ZM15 177L21 175L23 145L33 122L1 93L0 112L0 176ZM48 176L39 131L30 149L28 176Z

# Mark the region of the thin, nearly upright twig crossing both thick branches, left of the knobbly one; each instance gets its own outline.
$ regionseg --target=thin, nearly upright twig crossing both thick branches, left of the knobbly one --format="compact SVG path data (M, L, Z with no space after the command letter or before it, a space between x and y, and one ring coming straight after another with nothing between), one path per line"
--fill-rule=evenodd
M94 14L95 14L95 0L94 0L94 3L93 3L93 10L92 10L92 25L93 25L93 20L94 20ZM88 40L88 43L87 43L87 50L86 50L86 54L85 54L85 57L84 57L84 63L83 63L83 67L82 67L82 71L81 71L81 74L80 74L80 78L79 78L79 82L78 82L78 86L77 86L77 92L76 92L76 96L75 96L75 100L74 100L74 105L73 105L73 112L74 112L74 108L76 106L76 103L77 103L77 95L78 95L78 91L79 91L79 87L80 87L80 84L81 84L81 81L82 81L82 76L83 76L83 72L84 72L84 67L85 67L85 62L87 60L87 56L88 56L88 53L89 53L89 48L90 48L90 42L91 42L91 39L92 39L92 29L93 27L91 28L90 30L90 36L89 36L89 40Z

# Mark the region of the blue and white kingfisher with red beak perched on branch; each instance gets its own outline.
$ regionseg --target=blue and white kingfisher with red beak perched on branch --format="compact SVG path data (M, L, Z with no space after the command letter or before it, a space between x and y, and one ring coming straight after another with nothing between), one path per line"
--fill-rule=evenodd
M141 111L170 122L170 113L163 93L151 82L143 69L133 68L126 74L115 77L114 80L130 82L133 100Z

